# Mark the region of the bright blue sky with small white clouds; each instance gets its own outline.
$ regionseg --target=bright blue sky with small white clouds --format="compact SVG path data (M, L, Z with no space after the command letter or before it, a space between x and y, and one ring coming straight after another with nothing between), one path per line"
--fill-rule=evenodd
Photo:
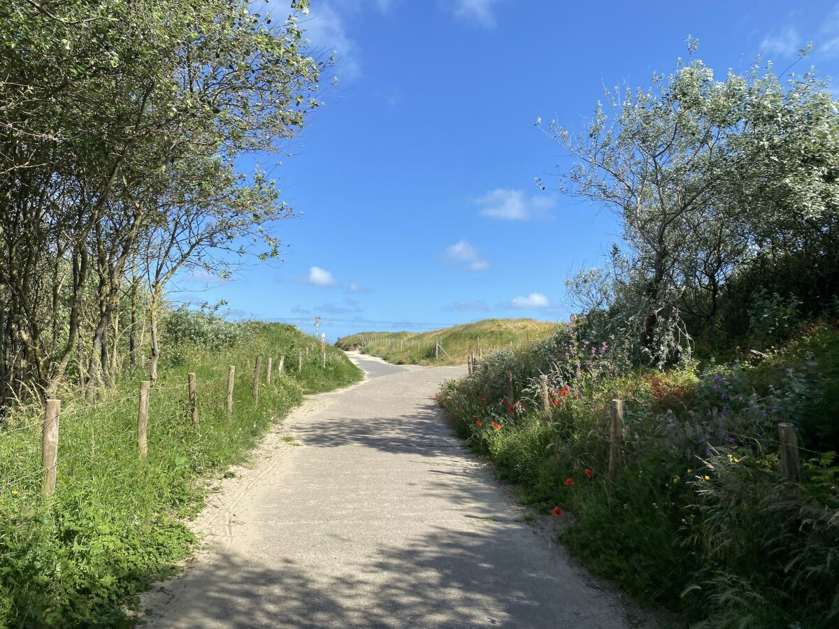
M312 0L305 28L336 49L339 82L292 155L259 160L300 213L278 226L283 261L201 292L187 282L180 299L307 330L320 314L339 320L323 327L331 340L393 329L371 320L565 320L566 276L597 266L619 230L550 190L565 161L534 122L580 129L604 86L648 85L687 56L688 35L720 76L758 53L783 70L808 41L795 70L839 75L836 0Z

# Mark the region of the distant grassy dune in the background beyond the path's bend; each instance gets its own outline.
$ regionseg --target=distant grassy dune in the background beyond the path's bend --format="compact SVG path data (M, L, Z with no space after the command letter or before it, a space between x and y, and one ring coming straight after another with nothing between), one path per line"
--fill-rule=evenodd
M487 319L429 332L361 332L336 340L397 365L462 365L471 351L523 348L553 335L556 324L533 319ZM437 344L442 347L436 350Z

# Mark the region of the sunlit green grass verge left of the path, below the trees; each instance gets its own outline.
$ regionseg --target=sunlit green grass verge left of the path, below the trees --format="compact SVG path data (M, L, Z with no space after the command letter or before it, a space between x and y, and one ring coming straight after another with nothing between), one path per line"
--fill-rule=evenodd
M341 351L288 325L250 324L250 339L224 351L168 353L149 395L149 457L139 460L138 382L88 404L62 395L58 484L40 496L40 411L18 408L0 429L0 626L131 626L124 609L153 580L173 573L195 539L181 519L203 504L200 479L247 460L271 424L305 393L362 379ZM302 372L297 352L310 346ZM286 356L285 372L276 366ZM255 356L274 359L271 384L253 401ZM225 410L228 365L234 410ZM190 423L187 372L198 382L198 429ZM31 425L30 425L31 424Z

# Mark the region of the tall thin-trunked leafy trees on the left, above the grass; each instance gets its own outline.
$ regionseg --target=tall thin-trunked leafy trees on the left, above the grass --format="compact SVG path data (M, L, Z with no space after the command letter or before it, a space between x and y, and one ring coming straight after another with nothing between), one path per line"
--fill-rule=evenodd
M237 159L318 107L294 13L244 0L0 1L0 408L137 365L173 278L278 254L290 210ZM125 351L127 350L127 351Z

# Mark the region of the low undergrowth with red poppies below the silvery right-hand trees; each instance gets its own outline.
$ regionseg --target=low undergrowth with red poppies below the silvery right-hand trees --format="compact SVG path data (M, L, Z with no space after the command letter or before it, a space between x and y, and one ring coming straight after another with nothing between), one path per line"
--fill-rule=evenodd
M586 325L488 357L438 395L457 434L519 484L521 499L570 519L565 543L595 574L690 626L816 627L839 621L839 466L814 413L836 387L839 333L748 362L632 369L586 342ZM509 411L503 372L514 373ZM550 382L549 421L538 375ZM622 464L606 480L609 408L628 403ZM778 423L800 426L804 482L779 472ZM828 427L831 427L828 429Z

